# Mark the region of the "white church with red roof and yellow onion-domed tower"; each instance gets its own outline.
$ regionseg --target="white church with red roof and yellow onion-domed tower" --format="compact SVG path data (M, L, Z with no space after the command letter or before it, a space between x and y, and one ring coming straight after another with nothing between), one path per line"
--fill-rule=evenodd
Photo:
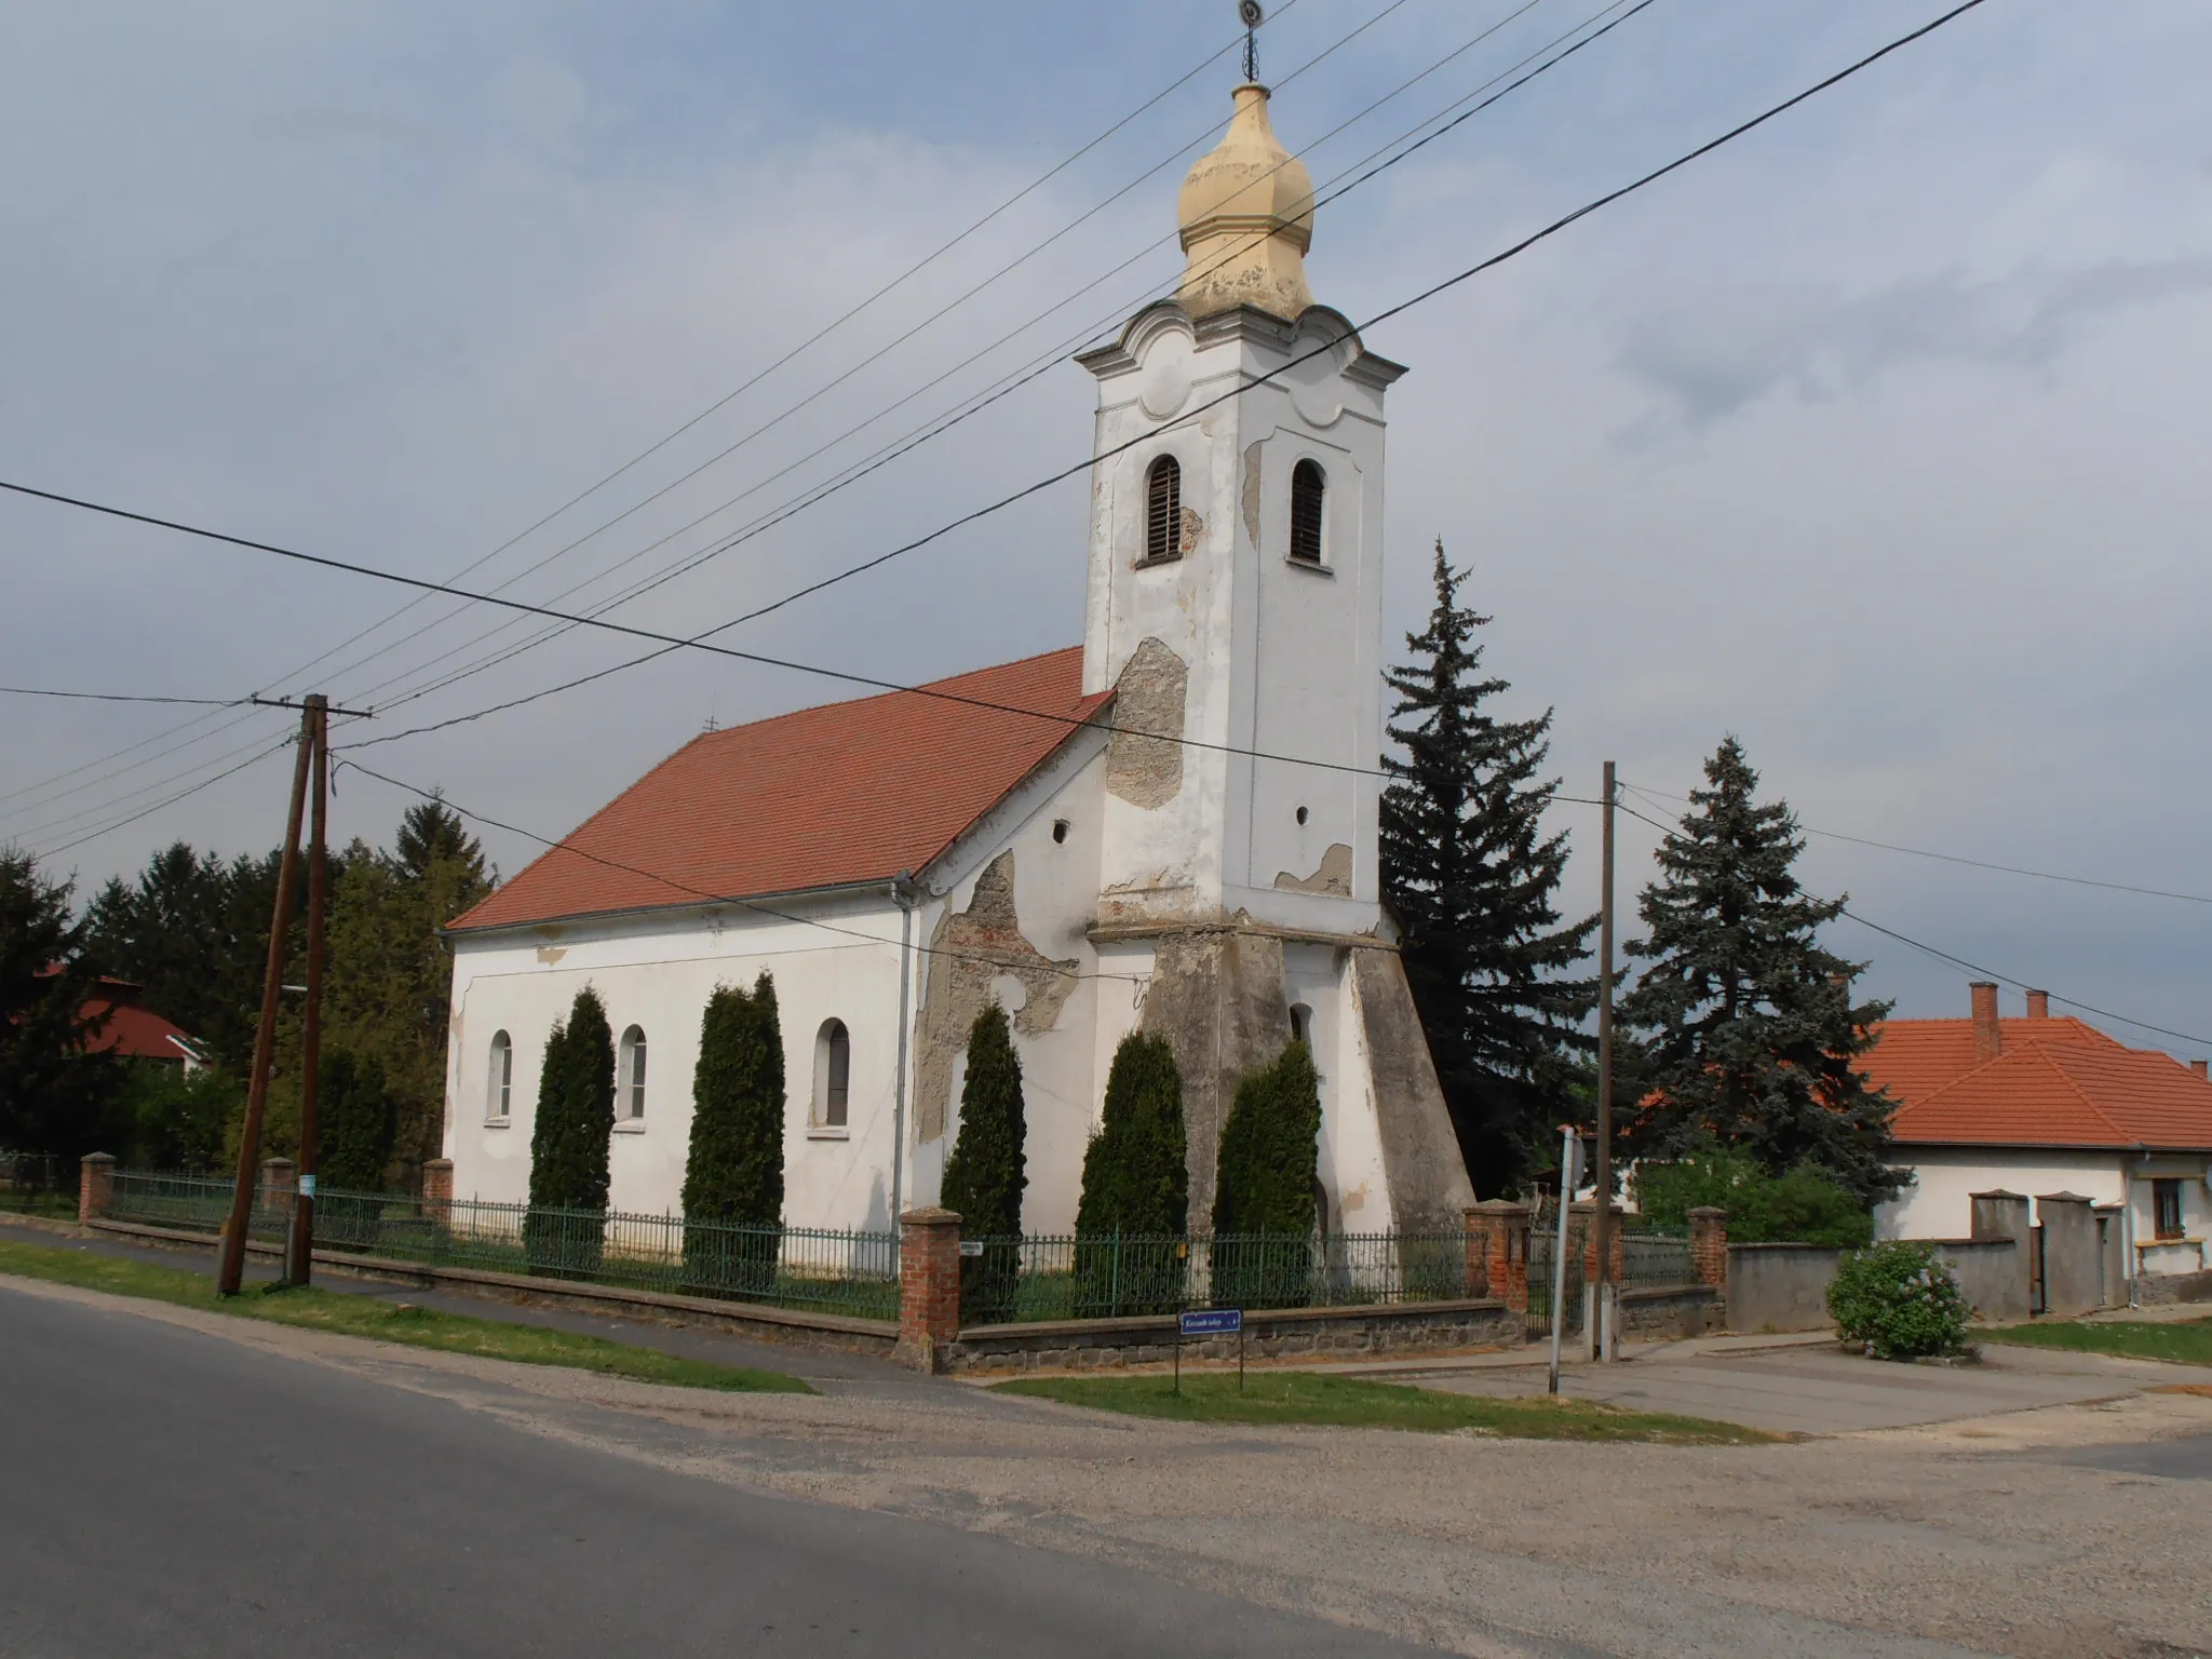
M1380 902L1383 403L1316 305L1307 170L1234 91L1177 199L1188 270L1097 380L1079 646L706 732L447 929L453 1194L529 1194L546 1033L617 1033L611 1206L679 1208L699 1024L770 973L785 1225L938 1199L969 1026L1022 1057L1031 1234L1071 1232L1130 1031L1183 1079L1190 1225L1239 1079L1321 1073L1316 1225L1473 1201ZM1073 549L1071 549L1073 551Z

